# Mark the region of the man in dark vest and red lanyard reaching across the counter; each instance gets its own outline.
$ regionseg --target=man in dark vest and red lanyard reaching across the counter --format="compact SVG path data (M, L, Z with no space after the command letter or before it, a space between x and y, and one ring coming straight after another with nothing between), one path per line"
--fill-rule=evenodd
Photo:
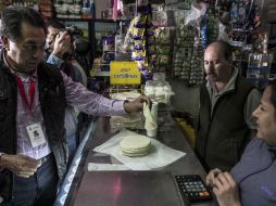
M67 104L95 116L142 110L146 96L110 100L43 62L46 27L29 8L1 14L0 205L52 205L66 170Z

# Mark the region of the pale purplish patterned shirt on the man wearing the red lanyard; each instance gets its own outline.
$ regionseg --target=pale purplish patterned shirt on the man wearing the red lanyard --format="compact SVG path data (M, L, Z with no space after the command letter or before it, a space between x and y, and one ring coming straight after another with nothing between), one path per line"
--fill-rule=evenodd
M15 74L14 70L12 70L12 73ZM81 83L74 82L64 73L61 72L61 74L65 86L65 99L67 104L75 106L79 111L93 116L112 116L126 114L123 107L124 103L123 101L110 100L100 94L93 93L89 91L87 88L85 88ZM29 157L39 159L51 153L51 149L47 141L45 121L40 110L40 102L38 99L39 94L38 94L37 73L34 73L32 76L26 76L20 73L16 73L15 75L20 76L23 81L28 102L29 102L28 87L30 85L30 80L34 80L36 82L35 99L32 108L32 114L29 113L28 107L24 103L21 93L17 92L17 114L16 114L17 154L27 155ZM41 125L43 134L46 137L46 143L33 147L27 134L26 127L37 123Z

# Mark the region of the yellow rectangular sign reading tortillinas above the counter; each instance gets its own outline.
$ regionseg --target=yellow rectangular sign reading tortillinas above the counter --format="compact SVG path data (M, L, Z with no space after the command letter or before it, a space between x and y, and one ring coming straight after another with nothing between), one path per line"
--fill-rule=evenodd
M111 85L140 85L141 73L136 62L112 61L110 63Z

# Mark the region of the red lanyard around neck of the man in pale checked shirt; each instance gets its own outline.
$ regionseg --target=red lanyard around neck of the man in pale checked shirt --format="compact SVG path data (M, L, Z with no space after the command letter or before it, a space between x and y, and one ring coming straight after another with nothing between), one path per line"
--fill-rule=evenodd
M26 95L26 92L25 92L22 79L20 77L17 77L16 80L17 80L17 86L18 86L18 89L20 89L21 96L22 96L24 103L27 105L27 107L29 110L29 113L32 114L33 103L34 103L34 99L35 99L36 82L30 79L30 85L29 85L29 103L28 103L27 95Z

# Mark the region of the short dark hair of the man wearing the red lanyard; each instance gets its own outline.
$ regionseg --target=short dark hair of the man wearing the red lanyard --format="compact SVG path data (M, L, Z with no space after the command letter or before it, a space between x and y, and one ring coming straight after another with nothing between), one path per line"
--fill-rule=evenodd
M46 34L43 18L32 8L8 7L2 12L1 20L1 35L8 36L13 41L22 38L23 23L43 28Z

